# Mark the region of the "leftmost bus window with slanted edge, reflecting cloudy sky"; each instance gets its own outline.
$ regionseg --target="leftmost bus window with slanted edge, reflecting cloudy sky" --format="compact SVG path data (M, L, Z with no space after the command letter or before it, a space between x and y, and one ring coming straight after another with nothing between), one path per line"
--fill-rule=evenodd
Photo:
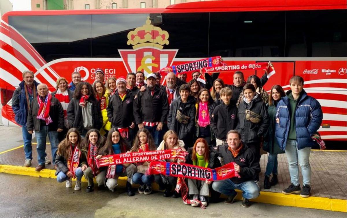
M46 62L64 57L90 57L91 15L9 17Z

